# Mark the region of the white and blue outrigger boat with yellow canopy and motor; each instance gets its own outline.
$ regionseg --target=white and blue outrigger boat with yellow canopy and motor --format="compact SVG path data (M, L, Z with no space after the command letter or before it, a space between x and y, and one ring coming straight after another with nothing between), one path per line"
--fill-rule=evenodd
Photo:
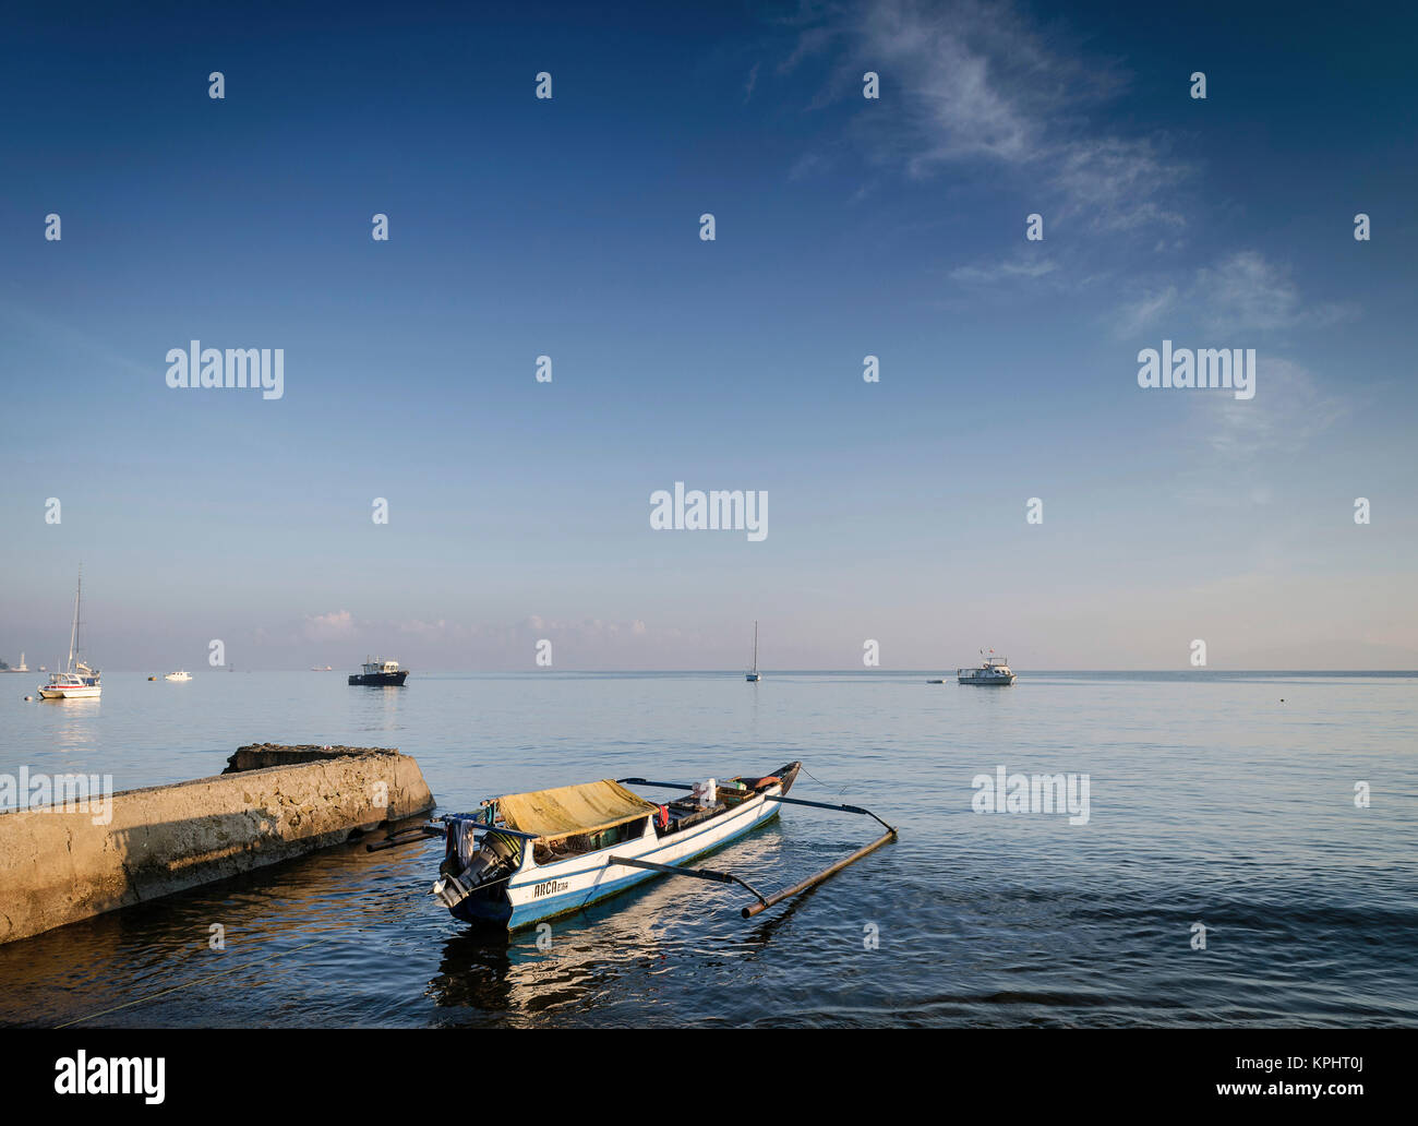
M518 930L647 879L674 875L736 883L757 901L742 910L749 919L896 838L896 830L869 810L787 797L801 766L788 763L774 774L736 777L722 786L713 779L695 786L603 779L488 798L479 813L448 814L438 818L441 828L424 827L424 832L442 835L447 842L432 893L457 919ZM627 784L683 790L691 797L655 804L627 790ZM786 804L865 814L886 831L830 868L771 895L730 872L683 866L773 820ZM418 837L406 834L390 838L387 847L414 840ZM370 845L377 847L386 845Z

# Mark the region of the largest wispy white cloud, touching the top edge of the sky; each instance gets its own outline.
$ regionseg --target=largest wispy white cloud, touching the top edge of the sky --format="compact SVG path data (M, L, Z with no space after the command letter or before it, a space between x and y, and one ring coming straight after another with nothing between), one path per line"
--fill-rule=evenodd
M871 112L855 136L873 157L925 179L983 165L1039 191L1038 208L1098 230L1181 227L1176 187L1190 169L1157 135L1100 130L1089 112L1126 87L1126 75L1085 60L1078 44L1044 34L1010 4L875 0L828 7L804 27L784 69L834 45L852 60L838 92L869 62L891 113Z

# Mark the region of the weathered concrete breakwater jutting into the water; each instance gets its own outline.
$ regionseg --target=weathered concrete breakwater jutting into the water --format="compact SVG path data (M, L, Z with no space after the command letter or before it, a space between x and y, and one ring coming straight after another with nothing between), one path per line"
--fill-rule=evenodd
M125 790L104 817L0 813L0 943L277 864L434 806L386 747L240 747L210 779Z

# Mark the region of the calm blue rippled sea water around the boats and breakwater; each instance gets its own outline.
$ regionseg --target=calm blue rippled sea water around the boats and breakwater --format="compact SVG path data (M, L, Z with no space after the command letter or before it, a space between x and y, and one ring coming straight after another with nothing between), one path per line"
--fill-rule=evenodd
M241 743L396 746L455 811L801 759L794 796L900 827L756 919L742 892L664 879L556 920L545 952L428 896L440 842L335 848L0 947L0 1024L1418 1022L1418 678L926 675L105 674L96 703L24 703L37 678L0 676L0 771L132 788L218 773ZM1088 824L974 813L1000 766L1088 774ZM778 888L873 827L788 807L713 866Z

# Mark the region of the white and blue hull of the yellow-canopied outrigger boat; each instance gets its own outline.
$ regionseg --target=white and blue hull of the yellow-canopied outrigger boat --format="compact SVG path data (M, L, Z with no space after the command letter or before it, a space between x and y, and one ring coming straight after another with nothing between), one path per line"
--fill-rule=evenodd
M797 779L797 763L786 767L778 777L783 781L771 786L767 794L787 794ZM769 801L760 794L669 837L657 837L654 828L647 828L638 841L623 841L557 864L519 869L508 879L475 889L450 910L454 918L468 923L501 923L508 930L519 930L610 899L661 875L625 864L610 864L613 854L671 866L689 864L761 828L778 815L778 810L777 801Z

